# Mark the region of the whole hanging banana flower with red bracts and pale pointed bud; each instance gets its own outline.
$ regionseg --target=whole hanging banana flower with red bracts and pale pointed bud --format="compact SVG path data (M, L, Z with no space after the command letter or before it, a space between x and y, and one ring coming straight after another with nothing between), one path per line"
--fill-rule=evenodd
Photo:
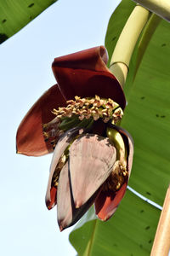
M17 131L17 153L54 152L46 205L57 204L60 230L93 204L99 219L111 218L127 188L133 139L116 125L126 99L107 61L104 46L54 59L58 84L38 99Z

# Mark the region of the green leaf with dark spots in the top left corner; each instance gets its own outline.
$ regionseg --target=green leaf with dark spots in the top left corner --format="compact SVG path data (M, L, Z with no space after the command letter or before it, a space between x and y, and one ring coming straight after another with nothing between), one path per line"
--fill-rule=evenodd
M0 44L57 0L0 0Z

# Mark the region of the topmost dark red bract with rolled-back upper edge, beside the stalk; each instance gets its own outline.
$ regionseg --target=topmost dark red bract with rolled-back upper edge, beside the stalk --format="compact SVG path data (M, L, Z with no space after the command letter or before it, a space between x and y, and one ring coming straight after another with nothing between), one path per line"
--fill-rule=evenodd
M55 58L52 67L63 95L67 99L98 95L112 98L125 108L122 86L106 67L106 61L104 46Z

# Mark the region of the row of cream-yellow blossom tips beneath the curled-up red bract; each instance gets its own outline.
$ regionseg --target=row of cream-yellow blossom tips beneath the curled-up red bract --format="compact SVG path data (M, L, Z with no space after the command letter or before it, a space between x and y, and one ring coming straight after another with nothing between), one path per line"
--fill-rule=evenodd
M116 102L111 99L100 99L99 96L95 98L75 96L75 101L68 101L67 104L65 108L54 109L53 113L58 119L77 115L80 120L93 117L94 121L101 118L105 123L110 119L116 123L123 115L122 108Z

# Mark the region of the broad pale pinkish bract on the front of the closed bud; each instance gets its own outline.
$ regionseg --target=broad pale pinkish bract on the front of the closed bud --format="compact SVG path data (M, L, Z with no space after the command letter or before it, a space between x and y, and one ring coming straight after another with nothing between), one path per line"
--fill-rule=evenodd
M70 148L71 188L75 206L81 207L111 174L116 148L108 138L87 134Z

